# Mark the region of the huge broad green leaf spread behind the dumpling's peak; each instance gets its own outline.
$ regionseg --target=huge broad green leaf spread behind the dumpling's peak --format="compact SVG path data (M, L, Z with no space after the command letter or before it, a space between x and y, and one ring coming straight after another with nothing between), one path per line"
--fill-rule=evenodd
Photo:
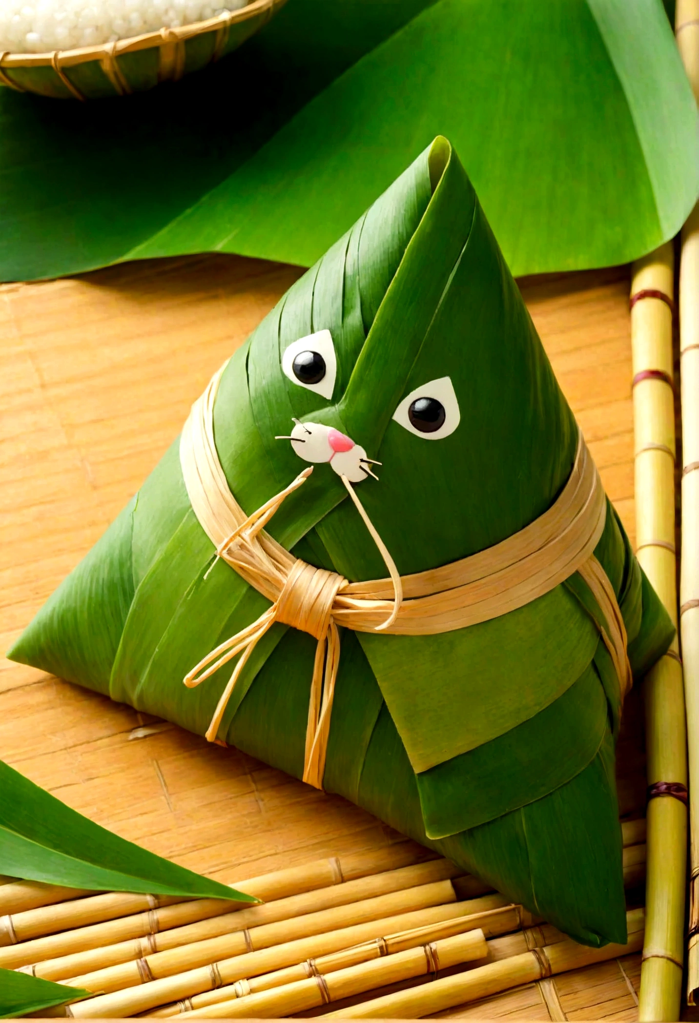
M514 273L620 263L699 190L660 0L291 0L152 94L0 96L0 277L222 251L307 265L438 133Z

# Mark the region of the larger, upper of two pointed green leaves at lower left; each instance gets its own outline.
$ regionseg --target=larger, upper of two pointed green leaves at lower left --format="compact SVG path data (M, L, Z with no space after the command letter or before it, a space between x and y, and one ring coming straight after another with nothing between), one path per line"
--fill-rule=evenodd
M257 901L119 838L2 761L0 873L68 888Z

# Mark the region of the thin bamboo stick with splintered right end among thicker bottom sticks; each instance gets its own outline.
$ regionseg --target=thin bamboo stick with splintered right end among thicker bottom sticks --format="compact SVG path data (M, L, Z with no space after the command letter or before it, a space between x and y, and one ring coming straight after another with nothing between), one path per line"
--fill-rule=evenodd
M239 998L247 994L257 994L260 991L268 991L273 987L292 984L295 981L306 980L309 976L316 973L326 974L334 973L337 970L345 970L360 963L367 963L383 955L391 955L394 952L404 951L407 948L425 945L431 941L452 937L476 928L481 928L487 936L504 933L520 927L521 921L520 906L511 904L501 906L498 909L474 914L469 917L455 917L443 922L423 925L408 931L400 931L397 934L387 934L372 941L353 945L351 948L344 948L339 952L331 952L327 955L319 955L317 959L306 960L304 963L298 963L282 970L274 970L272 973L261 974L258 977L236 981L235 984L227 984L225 987L219 987L215 991L205 991L202 994L194 994L174 1005L152 1010L149 1015L158 1018L177 1016L180 1013L194 1009L204 1009L207 1006L218 1005L220 1002L228 1002L229 999ZM522 938L524 948L518 948L517 951L537 947L539 944L547 944L548 941L543 940L544 930L548 932L550 941L559 940L559 938L554 936L555 934L560 935L560 940L564 937L564 935L556 931L556 928L549 925L544 925L543 928L528 928L526 932L520 931L518 934ZM511 954L515 953L512 952Z

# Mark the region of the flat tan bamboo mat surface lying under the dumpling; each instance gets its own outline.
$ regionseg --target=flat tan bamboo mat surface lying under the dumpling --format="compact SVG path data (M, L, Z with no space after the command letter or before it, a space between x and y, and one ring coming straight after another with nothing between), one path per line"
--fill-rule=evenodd
M178 434L212 372L302 271L207 256L0 287L0 642L78 563ZM626 268L520 282L634 540ZM622 813L645 792L632 696ZM235 750L0 662L0 757L75 809L222 882L379 848L395 833ZM640 955L449 1016L638 1018Z

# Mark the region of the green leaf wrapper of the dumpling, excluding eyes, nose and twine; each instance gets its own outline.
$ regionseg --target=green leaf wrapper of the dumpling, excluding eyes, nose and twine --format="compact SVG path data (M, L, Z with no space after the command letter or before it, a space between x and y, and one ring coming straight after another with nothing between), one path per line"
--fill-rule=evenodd
M338 363L330 400L280 366L288 345L325 329ZM461 412L450 435L427 441L393 419L405 395L444 376ZM551 507L568 480L577 426L445 139L290 288L226 366L215 442L248 514L302 468L289 442L274 440L292 417L337 428L383 463L381 482L356 490L402 575L498 543ZM267 528L350 580L385 575L329 464L315 466ZM638 677L673 629L609 503L596 555ZM175 445L10 656L202 733L231 666L194 690L183 676L268 607L214 562ZM573 575L466 629L343 629L323 777L327 791L593 945L625 940L614 782L621 696L600 615ZM91 640L102 618L110 627ZM246 665L219 736L300 777L314 654L310 635L275 624Z

